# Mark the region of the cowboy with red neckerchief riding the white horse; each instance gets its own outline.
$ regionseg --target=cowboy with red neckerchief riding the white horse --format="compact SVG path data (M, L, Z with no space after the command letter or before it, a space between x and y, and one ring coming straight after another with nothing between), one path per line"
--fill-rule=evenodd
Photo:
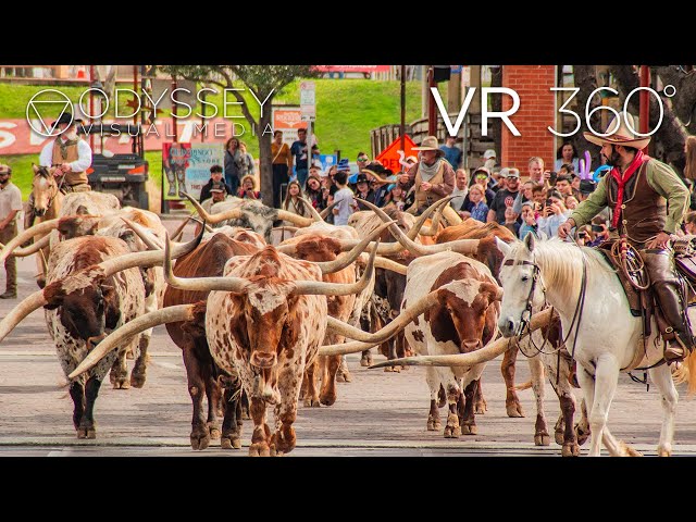
M631 114L625 116L635 128ZM614 125L616 119L608 129ZM631 128L623 121L609 136L583 133L585 139L601 147L601 156L612 169L560 225L558 235L566 238L572 227L588 223L607 206L613 210L612 235L625 236L639 251L664 320L674 331L674 341L666 343L664 359L680 361L694 348L694 338L668 244L688 209L689 194L669 165L643 153L650 137L636 137Z

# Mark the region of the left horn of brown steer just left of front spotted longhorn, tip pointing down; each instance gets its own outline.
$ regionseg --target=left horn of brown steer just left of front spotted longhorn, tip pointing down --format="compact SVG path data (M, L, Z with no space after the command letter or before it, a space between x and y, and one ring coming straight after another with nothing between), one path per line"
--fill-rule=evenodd
M146 313L145 315L134 319L119 330L113 331L105 339L99 343L95 349L83 359L77 368L73 370L67 378L75 378L77 375L90 370L103 359L107 353L126 343L134 335L138 335L160 324L192 320L195 306L196 304L177 304L156 310L154 312Z

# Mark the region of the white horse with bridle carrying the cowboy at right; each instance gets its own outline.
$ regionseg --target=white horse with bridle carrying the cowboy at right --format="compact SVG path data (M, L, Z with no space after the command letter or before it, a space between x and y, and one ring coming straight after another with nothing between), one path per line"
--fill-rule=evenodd
M652 322L652 333L644 344L642 320L631 314L619 278L601 253L559 239L535 240L532 234L513 245L498 241L498 247L506 254L500 271L505 289L498 322L500 332L505 337L520 333L527 303L538 307L546 300L559 312L563 335L568 336L566 346L577 361L577 381L587 405L592 431L589 455L599 456L601 442L610 455L641 455L609 433L607 417L619 372L634 365L636 350L643 353L644 347L647 353L639 366L649 368L662 401L657 452L664 457L671 455L679 395L670 368L656 365L663 355L657 324ZM585 285L583 274L586 274ZM581 299L583 286L585 295ZM695 315L689 309L692 322L696 321Z

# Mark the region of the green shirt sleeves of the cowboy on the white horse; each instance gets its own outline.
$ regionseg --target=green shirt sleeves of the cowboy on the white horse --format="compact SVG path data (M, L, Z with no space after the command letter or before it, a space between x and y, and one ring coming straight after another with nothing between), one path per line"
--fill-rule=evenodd
M679 225L682 224L684 213L688 210L689 194L679 175L666 163L656 159L650 159L647 164L648 185L657 194L667 199L667 221L664 232L674 234ZM607 178L609 173L597 184L597 188L589 197L580 203L570 214L575 222L575 226L583 226L592 221L605 207L607 201Z

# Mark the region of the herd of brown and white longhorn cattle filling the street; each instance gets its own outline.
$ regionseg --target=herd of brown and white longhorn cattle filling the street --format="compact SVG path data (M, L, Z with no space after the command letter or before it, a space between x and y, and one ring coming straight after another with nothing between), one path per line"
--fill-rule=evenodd
M46 186L40 179L35 191ZM115 388L145 385L150 335L159 324L182 349L194 449L215 439L240 448L243 420L250 418L250 455L291 451L298 403L334 405L343 355L362 352L361 363L371 365L375 346L389 360L417 353L427 365L426 428L443 428L439 409L447 406L445 437L476 433L475 414L486 411L481 375L487 350L505 353L510 417L523 415L514 361L518 350L527 356L536 445L550 444L545 374L561 405L556 442L562 455L579 455L588 435L586 414L574 425L569 359L533 348L546 341L562 353L558 321L540 324L531 340L498 339L504 254L496 238L511 243L513 235L495 224L462 222L448 200L418 219L365 202L371 210L355 213L346 226L325 223L309 203L312 217L243 201L209 214L191 200L202 226L192 240L176 243L156 214L122 209L111 196L36 196L54 206L49 219L3 246L0 261L37 252L39 290L2 319L0 341L32 311L46 310L79 438L96 437L95 401L108 373ZM294 237L273 241L278 220L297 225ZM442 365L431 356L452 358ZM128 357L135 359L129 378Z

